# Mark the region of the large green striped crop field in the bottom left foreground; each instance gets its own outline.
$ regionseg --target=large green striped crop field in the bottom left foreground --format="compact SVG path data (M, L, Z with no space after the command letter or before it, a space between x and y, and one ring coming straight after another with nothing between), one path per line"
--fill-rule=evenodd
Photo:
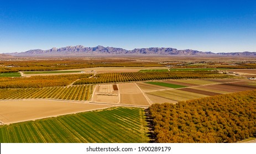
M0 126L0 142L148 142L142 108L109 108Z

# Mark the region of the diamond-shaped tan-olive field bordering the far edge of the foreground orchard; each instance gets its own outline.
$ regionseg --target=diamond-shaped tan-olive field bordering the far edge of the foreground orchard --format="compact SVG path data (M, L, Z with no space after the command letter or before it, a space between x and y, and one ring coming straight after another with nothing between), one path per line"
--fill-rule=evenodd
M177 101L177 102L192 100L195 98L207 97L207 95L196 94L194 92L187 92L187 91L182 91L182 90L156 91L156 92L148 92L147 94L167 98L167 99Z

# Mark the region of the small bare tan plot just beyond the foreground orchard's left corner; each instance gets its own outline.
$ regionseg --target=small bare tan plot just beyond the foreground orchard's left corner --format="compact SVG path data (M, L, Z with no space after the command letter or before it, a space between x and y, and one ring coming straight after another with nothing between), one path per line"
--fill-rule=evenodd
M121 94L121 104L126 105L138 105L138 106L149 106L149 103L145 96L140 94Z

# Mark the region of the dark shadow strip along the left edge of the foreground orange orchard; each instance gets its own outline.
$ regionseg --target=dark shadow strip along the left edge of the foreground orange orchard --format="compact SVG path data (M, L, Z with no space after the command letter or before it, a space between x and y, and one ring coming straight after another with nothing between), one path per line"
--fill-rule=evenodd
M156 140L156 136L155 136L155 133L154 133L154 125L153 125L153 118L151 118L150 116L150 112L149 112L149 108L145 109L145 119L146 119L146 122L147 122L147 127L148 127L148 133L147 135L149 136L150 138L150 143L155 143L155 140Z

